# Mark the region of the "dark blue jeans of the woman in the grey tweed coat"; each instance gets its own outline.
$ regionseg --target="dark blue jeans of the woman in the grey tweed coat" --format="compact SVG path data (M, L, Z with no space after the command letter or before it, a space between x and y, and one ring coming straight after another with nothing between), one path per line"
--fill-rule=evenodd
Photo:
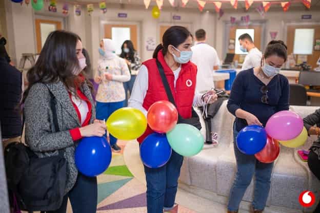
M97 196L98 188L96 177L87 177L79 173L73 188L64 197L61 207L55 211L47 212L66 213L69 197L73 212L95 213L97 207Z

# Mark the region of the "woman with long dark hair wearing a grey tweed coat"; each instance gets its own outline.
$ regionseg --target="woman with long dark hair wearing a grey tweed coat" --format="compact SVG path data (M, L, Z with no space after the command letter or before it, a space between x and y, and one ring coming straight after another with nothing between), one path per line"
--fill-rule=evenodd
M94 120L91 84L83 72L86 58L82 50L82 42L76 34L54 31L27 74L29 87L23 98L26 143L38 157L58 155L61 150L67 160L65 197L54 213L66 212L68 198L73 212L96 212L96 177L78 173L74 164L74 150L79 139L102 137L106 132L104 122ZM58 132L54 129L51 98L56 100Z

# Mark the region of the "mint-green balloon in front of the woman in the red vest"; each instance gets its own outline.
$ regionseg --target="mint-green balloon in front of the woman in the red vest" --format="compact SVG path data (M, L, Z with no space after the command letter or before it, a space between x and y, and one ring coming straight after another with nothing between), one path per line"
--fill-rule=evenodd
M167 133L169 144L174 152L182 156L193 156L202 151L204 137L196 127L180 123Z

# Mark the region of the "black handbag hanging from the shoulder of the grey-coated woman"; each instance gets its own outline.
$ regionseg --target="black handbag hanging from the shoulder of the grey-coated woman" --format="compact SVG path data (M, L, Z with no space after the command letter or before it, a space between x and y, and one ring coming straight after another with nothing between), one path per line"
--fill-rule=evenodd
M56 100L50 95L54 129L59 132ZM53 211L61 207L67 180L63 150L59 150L57 156L39 158L21 141L14 142L5 148L5 164L12 207L29 212Z

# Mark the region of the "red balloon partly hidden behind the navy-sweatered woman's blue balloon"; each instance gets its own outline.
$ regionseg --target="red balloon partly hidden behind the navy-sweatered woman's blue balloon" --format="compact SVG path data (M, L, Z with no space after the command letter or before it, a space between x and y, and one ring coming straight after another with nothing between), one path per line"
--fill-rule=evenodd
M280 153L279 142L268 136L267 144L262 151L255 154L255 158L262 163L272 163L277 159Z

